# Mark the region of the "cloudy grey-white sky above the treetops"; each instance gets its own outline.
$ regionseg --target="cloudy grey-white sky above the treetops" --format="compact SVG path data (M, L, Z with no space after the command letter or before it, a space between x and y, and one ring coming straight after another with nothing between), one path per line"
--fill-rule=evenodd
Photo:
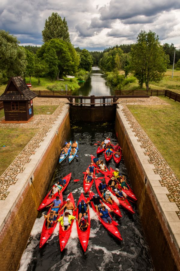
M52 12L66 18L74 47L102 51L134 43L140 30L180 47L180 0L1 0L0 29L22 45L39 46Z

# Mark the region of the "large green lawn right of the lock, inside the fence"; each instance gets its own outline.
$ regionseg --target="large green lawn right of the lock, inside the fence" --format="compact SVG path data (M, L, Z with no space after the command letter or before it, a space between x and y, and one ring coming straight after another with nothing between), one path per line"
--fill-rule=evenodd
M127 106L180 179L180 103L161 99L169 105Z

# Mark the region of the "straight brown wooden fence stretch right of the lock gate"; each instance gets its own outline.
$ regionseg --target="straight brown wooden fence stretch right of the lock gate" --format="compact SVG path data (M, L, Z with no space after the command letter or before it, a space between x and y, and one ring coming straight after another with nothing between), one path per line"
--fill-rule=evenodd
M150 90L115 90L114 95L121 95L121 96L165 96L165 89L150 89Z

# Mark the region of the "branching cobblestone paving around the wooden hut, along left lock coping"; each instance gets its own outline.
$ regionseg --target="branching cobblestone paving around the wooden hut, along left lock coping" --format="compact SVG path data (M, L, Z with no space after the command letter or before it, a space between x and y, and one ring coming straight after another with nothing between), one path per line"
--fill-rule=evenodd
M49 101L48 101L49 100ZM59 101L60 100L60 101ZM8 193L7 189L10 185L14 185L17 181L16 176L18 173L24 171L24 165L29 163L31 159L29 157L35 154L35 149L39 147L39 143L44 141L44 137L49 132L55 120L62 111L64 102L67 99L58 98L35 98L33 100L34 105L59 105L52 115L35 115L34 119L29 123L0 123L0 127L4 128L40 128L36 135L16 157L13 163L7 168L7 170L0 176L0 200L4 200Z

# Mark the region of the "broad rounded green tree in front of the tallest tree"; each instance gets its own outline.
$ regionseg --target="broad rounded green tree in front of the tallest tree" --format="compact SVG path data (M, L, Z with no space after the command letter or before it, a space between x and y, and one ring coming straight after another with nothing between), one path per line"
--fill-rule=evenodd
M51 53L50 53L51 52ZM51 39L49 42L45 42L41 48L37 51L37 56L44 59L48 65L48 54L52 57L52 66L57 69L57 80L62 78L63 75L76 73L79 65L79 57L71 43L65 42L62 39ZM51 70L51 68L50 68ZM51 75L52 77L52 75Z

